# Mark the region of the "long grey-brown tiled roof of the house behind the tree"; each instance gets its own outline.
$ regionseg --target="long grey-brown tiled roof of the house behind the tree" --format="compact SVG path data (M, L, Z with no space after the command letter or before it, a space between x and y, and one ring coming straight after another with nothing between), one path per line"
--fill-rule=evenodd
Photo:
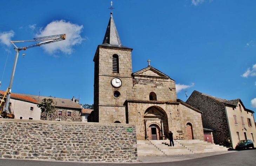
M36 96L36 95L26 95L26 94L18 94L20 96L26 96L30 97L39 103L42 102L43 99L53 99L54 103L56 102L56 107L62 107L62 108L74 108L74 109L80 109L82 110L81 105L78 102L72 101L72 99L62 99L62 98L56 98L56 97L46 97L46 96Z

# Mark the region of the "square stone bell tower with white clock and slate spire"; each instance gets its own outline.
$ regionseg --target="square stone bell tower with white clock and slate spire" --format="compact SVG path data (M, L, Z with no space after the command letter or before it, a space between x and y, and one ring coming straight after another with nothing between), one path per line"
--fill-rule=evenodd
M133 99L132 48L123 46L110 13L103 43L94 55L93 121L127 123L127 99Z

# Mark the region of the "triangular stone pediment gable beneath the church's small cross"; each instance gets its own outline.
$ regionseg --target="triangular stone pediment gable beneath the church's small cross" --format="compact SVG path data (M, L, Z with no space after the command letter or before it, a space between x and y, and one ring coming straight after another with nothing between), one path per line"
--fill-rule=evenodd
M144 69L136 71L135 73L132 73L132 76L137 76L137 77L153 77L153 78L162 78L162 79L169 79L170 78L168 75L163 74L161 71L159 71L159 70L157 70L157 69L155 69L155 68L153 68L151 66L148 66L148 67L146 67Z

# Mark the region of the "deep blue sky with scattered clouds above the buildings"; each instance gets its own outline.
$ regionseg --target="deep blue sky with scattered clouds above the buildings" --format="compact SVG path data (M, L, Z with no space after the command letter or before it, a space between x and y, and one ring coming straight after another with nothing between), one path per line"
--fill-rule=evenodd
M110 17L108 0L12 0L0 6L0 90L15 50L10 40L67 34L67 40L20 51L12 92L93 104L94 62ZM177 98L197 90L256 112L256 1L116 0L122 45L133 72L150 65L176 81ZM18 47L33 43L16 43ZM25 56L22 56L25 54ZM7 57L8 56L8 57Z

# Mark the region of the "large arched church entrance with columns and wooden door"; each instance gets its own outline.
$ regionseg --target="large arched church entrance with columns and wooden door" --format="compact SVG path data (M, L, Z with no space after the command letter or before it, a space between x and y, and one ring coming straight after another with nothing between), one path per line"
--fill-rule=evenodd
M144 113L145 139L159 140L167 136L168 119L166 112L158 106L149 107Z

